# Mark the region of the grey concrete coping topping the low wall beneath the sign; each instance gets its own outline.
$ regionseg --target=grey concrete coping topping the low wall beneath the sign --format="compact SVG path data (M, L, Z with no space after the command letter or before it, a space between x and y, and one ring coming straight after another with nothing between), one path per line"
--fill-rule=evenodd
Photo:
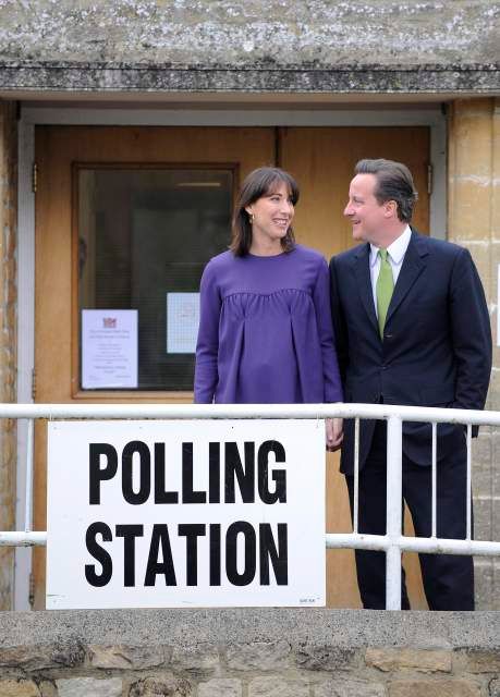
M74 641L229 645L275 641L359 648L500 649L496 612L388 612L324 609L151 609L0 613L0 647Z

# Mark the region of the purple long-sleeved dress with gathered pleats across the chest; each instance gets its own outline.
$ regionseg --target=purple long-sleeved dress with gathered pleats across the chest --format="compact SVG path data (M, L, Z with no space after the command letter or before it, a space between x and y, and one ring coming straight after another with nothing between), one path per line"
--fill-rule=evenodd
M195 402L341 402L327 262L302 245L214 257L200 283Z

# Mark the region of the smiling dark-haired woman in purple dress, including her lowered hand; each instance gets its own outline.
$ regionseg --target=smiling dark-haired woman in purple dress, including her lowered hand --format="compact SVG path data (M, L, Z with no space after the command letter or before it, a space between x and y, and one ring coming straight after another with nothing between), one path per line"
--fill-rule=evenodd
M195 402L289 404L342 401L333 345L328 268L295 244L298 187L263 167L243 182L229 252L200 284ZM340 445L340 419L327 448Z

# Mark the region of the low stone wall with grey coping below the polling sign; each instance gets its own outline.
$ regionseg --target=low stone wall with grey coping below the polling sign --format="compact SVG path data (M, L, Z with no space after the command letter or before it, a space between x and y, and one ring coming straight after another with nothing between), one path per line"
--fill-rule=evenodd
M498 697L493 613L2 613L2 697Z

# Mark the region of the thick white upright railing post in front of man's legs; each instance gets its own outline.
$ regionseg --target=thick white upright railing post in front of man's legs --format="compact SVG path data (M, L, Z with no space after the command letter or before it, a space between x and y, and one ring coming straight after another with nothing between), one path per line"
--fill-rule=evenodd
M387 424L387 537L386 609L401 610L401 548L398 540L402 526L402 420L390 416Z

